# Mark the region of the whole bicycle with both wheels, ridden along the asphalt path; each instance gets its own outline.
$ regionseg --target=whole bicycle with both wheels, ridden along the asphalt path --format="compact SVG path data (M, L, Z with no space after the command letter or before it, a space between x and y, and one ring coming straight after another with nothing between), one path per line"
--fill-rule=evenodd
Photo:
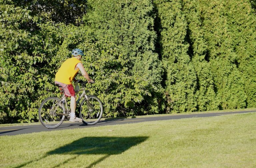
M84 99L79 105L79 116L85 125L94 125L98 123L102 117L102 102L97 96L86 95L85 85L87 82L79 81L79 83L81 83L82 89L79 89L76 93L80 91L83 91L83 93L79 96L78 100L76 101L77 107L80 100L82 100L82 98L84 97ZM66 120L69 120L70 118L71 111L68 108L64 90L60 85L56 84L56 86L59 87L61 94L63 94L62 98L59 99L57 97L48 97L41 103L38 110L39 120L41 124L46 128L57 128L65 120L65 117L67 118ZM65 102L61 101L63 99L65 100Z

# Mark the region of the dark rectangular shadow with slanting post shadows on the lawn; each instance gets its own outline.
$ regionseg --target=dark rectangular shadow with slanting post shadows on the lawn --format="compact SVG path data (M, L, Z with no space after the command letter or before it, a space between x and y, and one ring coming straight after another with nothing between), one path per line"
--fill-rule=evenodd
M23 163L16 168L23 167L32 162L39 161L49 155L74 155L74 157L69 158L64 162L61 162L58 165L53 165L53 167L59 167L60 165L66 164L69 161L76 159L79 155L104 155L103 157L99 158L98 160L92 162L90 165L87 166L87 168L90 168L105 160L109 156L121 154L132 146L138 145L146 141L147 139L148 137L84 137L70 144L50 151L45 156L37 160Z

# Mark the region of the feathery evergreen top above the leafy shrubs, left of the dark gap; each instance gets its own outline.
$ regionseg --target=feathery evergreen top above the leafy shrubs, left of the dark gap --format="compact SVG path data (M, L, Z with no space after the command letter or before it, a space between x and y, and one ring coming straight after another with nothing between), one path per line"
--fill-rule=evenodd
M88 1L85 22L98 36L109 35L129 57L154 49L153 5L149 0Z

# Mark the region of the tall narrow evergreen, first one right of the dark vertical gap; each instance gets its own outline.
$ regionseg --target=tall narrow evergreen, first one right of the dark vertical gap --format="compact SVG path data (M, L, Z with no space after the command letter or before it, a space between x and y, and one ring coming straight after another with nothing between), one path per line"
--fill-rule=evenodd
M167 73L167 112L196 110L196 73L187 54L187 21L180 1L154 1L161 23L160 45Z

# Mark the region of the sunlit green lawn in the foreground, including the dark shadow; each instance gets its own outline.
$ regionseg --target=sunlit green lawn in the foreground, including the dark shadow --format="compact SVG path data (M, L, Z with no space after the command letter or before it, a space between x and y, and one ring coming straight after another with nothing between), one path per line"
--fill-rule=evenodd
M256 167L256 113L0 136L0 167Z

